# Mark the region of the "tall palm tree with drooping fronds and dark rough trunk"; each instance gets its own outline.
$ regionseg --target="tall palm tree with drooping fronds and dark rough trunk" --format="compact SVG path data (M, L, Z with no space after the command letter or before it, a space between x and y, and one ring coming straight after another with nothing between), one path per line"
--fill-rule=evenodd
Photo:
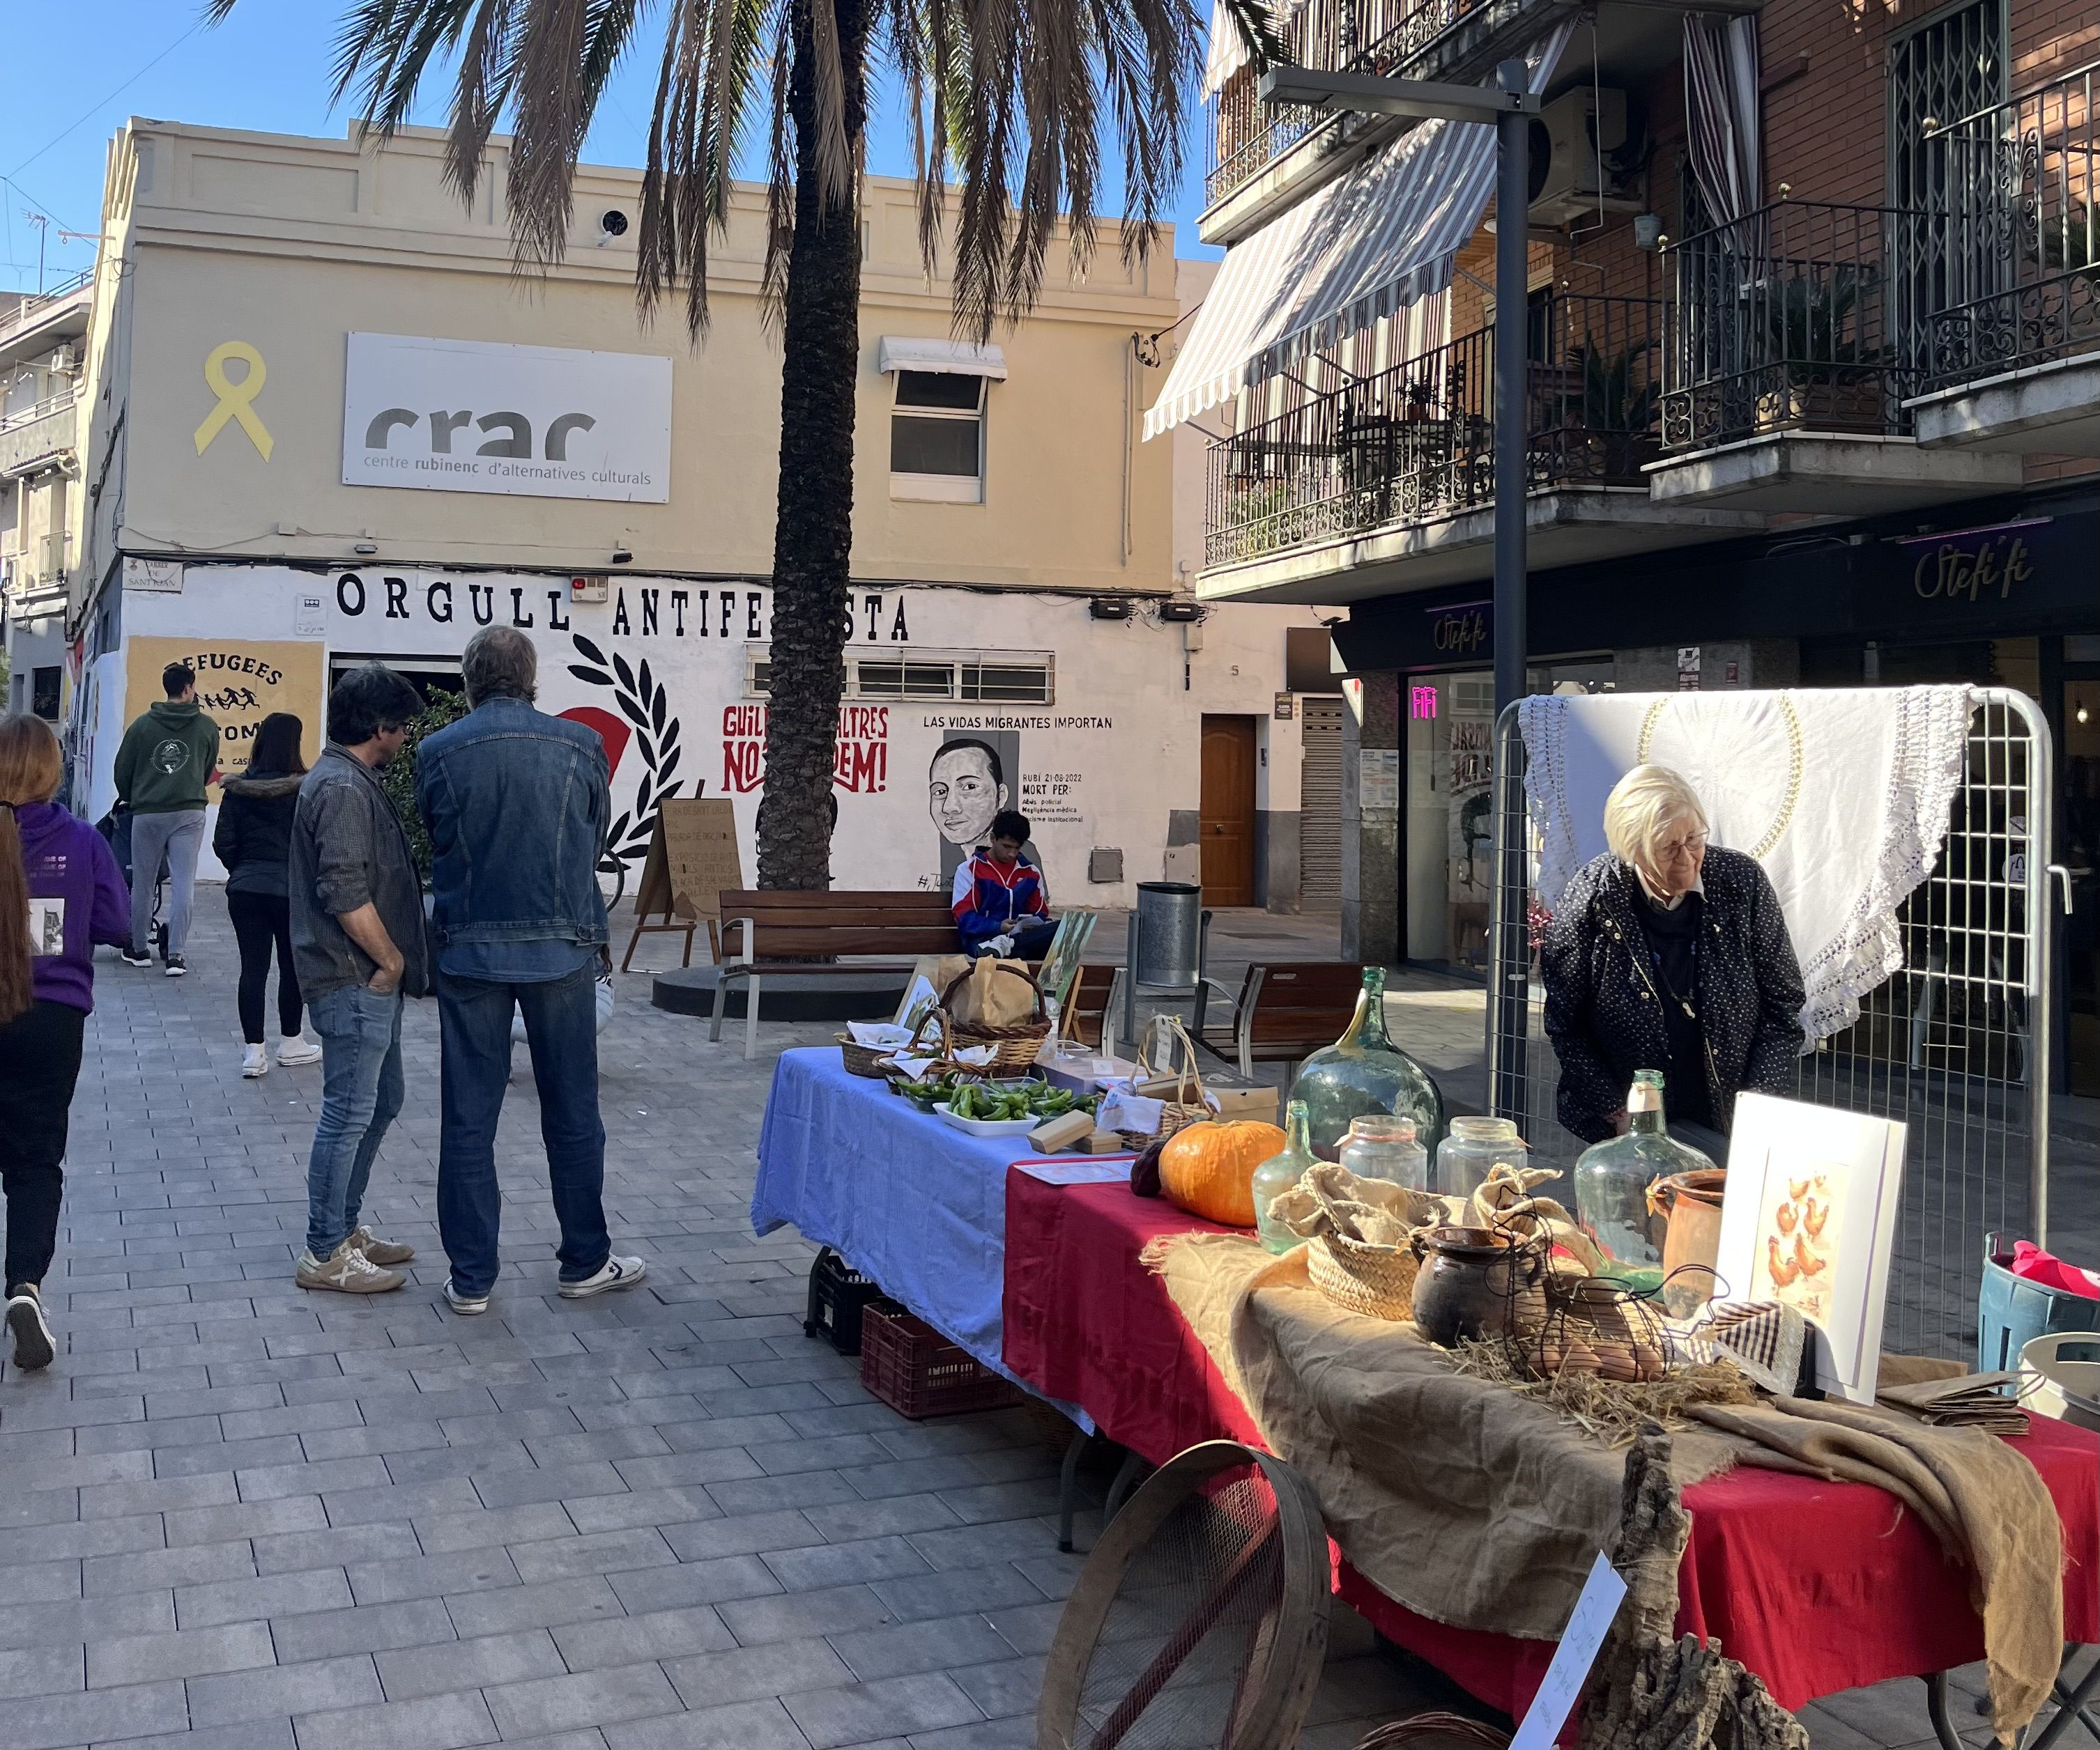
M235 0L208 0L223 19ZM1180 180L1182 94L1201 23L1191 0L351 0L334 97L380 136L412 111L430 63L456 63L445 178L472 201L500 120L521 269L563 258L578 153L607 78L651 4L664 46L638 220L636 300L685 290L708 325L708 241L729 218L737 149L764 105L766 294L781 327L779 508L773 533L766 791L758 883L830 885L832 764L853 558L859 374L859 174L869 67L888 65L918 157L928 273L962 183L953 239L960 334L1027 311L1058 216L1094 250L1102 153L1124 170L1121 252L1142 258ZM1231 0L1258 52L1260 0Z

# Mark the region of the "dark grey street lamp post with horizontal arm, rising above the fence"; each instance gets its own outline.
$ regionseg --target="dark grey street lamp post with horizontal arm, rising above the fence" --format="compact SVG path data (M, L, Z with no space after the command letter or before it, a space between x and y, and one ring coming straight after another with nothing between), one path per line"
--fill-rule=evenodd
M1531 118L1522 61L1495 67L1495 84L1451 86L1270 67L1262 103L1354 109L1369 115L1485 122L1495 128L1495 716L1525 697L1525 210L1531 204Z

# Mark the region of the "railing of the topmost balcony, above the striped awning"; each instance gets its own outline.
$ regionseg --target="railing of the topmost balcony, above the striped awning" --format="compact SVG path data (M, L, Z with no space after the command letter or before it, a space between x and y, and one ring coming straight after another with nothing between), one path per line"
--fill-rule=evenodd
M1564 10L1573 10L1567 0L1306 0L1279 36L1300 67L1466 82ZM1338 111L1264 105L1254 69L1241 67L1212 99L1203 204L1216 206L1308 134L1342 124Z

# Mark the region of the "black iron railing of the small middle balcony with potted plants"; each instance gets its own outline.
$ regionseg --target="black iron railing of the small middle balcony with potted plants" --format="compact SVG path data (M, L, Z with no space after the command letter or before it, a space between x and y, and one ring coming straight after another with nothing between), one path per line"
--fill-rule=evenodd
M1663 447L1909 432L1922 214L1779 201L1670 250Z

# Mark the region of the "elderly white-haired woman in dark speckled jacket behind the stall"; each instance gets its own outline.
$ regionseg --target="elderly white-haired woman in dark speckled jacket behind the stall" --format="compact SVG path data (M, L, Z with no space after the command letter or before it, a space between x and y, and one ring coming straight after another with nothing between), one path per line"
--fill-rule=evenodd
M1724 1158L1735 1095L1791 1093L1802 969L1756 858L1707 848L1707 814L1667 766L1636 766L1604 802L1602 856L1546 932L1556 1110L1583 1141L1625 1129L1634 1070L1661 1070L1670 1129Z

